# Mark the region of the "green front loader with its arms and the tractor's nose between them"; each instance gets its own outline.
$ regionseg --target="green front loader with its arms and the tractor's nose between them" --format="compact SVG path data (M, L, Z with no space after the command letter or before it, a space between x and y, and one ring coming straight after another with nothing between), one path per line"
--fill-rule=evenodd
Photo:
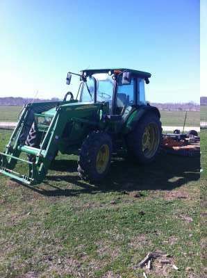
M77 100L27 104L5 152L0 153L0 173L26 185L41 183L58 150L70 154L98 128L103 109L108 111L108 104Z

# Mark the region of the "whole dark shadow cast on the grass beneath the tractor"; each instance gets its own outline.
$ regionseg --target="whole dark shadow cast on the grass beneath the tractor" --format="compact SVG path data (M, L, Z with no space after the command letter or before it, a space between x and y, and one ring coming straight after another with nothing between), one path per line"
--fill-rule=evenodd
M47 179L42 183L47 186L47 189L42 188L42 185L30 188L48 197L108 191L172 190L188 182L199 180L200 158L161 153L150 165L138 165L123 158L113 158L108 176L104 181L95 184L81 181L76 169L76 160L56 160L52 170L58 173L48 174ZM72 184L72 188L68 188L69 184Z

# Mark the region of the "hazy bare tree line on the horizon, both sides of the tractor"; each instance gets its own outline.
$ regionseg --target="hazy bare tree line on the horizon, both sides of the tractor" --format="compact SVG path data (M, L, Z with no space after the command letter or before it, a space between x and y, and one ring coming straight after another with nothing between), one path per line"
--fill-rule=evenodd
M44 101L60 101L57 97L53 97L51 99L32 99L32 98L24 98L24 97L0 97L0 105L17 105L17 106L24 106L24 104L28 104L30 102L44 102ZM207 105L207 97L201 97L201 101L203 104ZM194 102L188 103L166 103L166 104L159 104L159 103L152 103L149 102L152 106L156 106L160 110L167 110L167 111L199 111L200 106ZM201 104L202 105L202 104Z

